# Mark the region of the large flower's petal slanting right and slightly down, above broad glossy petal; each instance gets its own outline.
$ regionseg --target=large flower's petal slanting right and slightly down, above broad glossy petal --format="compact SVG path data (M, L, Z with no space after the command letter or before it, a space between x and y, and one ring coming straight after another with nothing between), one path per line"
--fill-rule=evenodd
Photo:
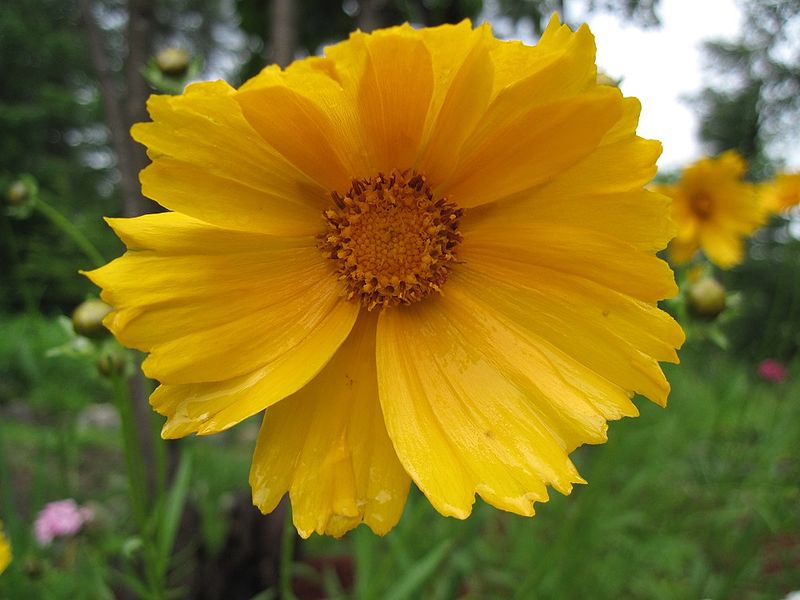
M490 270L490 263L473 263L456 280L482 290L503 316L601 377L666 404L670 388L657 360L678 362L674 349L684 339L668 315L555 269L530 268L517 278Z

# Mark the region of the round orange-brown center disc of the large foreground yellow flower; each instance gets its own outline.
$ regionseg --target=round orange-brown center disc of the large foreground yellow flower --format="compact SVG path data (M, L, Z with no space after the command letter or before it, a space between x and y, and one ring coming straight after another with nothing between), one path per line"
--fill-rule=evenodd
M436 198L425 176L393 171L354 179L324 212L319 247L339 263L347 297L367 309L422 300L447 280L463 210Z

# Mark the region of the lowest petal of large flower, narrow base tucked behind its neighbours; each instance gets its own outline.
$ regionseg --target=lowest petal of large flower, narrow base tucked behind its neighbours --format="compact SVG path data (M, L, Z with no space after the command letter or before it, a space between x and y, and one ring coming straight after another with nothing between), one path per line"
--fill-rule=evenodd
M359 523L383 535L400 519L409 477L378 401L375 313L364 315L307 386L267 409L250 471L253 502L272 511L288 491L303 537Z

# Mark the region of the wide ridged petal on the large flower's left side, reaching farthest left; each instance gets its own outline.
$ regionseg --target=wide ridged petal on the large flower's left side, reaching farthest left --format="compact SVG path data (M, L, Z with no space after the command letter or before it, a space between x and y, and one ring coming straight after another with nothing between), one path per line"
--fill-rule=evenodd
M131 249L87 275L114 306L109 329L150 352L145 372L170 384L151 399L174 421L167 432L227 427L295 392L355 322L314 238L177 213L111 223Z

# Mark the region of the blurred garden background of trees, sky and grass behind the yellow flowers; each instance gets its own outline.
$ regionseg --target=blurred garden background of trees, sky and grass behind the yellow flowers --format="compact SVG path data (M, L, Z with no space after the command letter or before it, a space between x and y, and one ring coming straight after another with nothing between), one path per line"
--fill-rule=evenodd
M598 67L642 100L640 133L664 142L660 180L729 149L754 183L800 168L798 0L0 3L0 565L3 540L12 556L0 598L800 590L797 206L752 235L740 265L703 267L719 283L713 310L691 304L697 274L679 272L668 308L689 341L666 369L670 407L637 400L640 418L576 452L590 484L534 519L480 501L467 521L445 519L412 490L384 538L362 526L300 540L286 507L264 517L251 506L258 420L162 442L152 382L97 327L97 290L78 271L123 252L102 217L159 210L139 193L147 159L128 135L148 95L239 85L356 28L404 21L490 21L535 43L554 11L590 24Z

